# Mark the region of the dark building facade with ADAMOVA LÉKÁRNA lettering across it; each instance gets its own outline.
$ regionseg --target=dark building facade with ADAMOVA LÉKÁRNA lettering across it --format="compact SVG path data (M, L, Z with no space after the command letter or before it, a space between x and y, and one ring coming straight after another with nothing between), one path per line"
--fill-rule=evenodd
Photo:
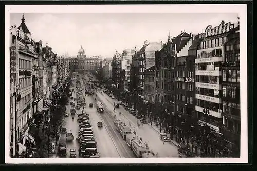
M186 44L177 52L175 58L175 116L176 125L188 123L194 113L194 59L188 50L195 36L183 33Z

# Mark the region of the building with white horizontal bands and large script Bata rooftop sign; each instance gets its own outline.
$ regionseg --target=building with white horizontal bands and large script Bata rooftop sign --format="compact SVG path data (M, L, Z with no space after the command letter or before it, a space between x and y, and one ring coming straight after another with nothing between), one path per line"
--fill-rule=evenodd
M233 24L225 24L224 21L214 28L209 25L195 59L195 112L199 123L214 132L219 132L222 124L223 46L233 28Z

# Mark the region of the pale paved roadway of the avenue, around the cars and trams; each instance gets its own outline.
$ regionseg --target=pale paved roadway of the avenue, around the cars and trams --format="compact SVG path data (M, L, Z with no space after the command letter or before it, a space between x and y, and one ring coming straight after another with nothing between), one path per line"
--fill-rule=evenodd
M85 78L87 76L85 75ZM84 83L82 80L82 75L80 75L80 81L82 88L84 88ZM86 85L86 88L89 88L89 85ZM72 84L70 89L73 89L72 96L76 99L76 80L72 80ZM101 90L102 91L102 90ZM149 148L155 153L158 154L159 157L178 157L177 147L169 142L164 142L159 139L159 133L154 130L150 125L143 124L140 127L137 126L138 119L136 119L133 115L128 113L123 106L120 105L119 108L116 108L116 111L113 111L113 103L117 103L117 100L113 100L107 94L101 94L101 91L95 91L94 95L86 95L85 91L83 91L83 95L85 96L86 105L80 109L76 110L76 113L86 112L89 114L90 123L92 125L93 133L95 140L97 142L97 149L100 153L100 157L136 157L132 150L127 146L125 140L122 138L120 133L117 131L114 125L114 115L116 115L116 119L120 119L124 121L127 125L131 122L131 129L134 130L138 135L138 137L142 137L143 142L147 142L149 144ZM64 118L63 126L66 126L67 133L72 133L74 135L74 140L72 142L67 142L67 156L69 157L70 149L76 149L77 157L79 150L79 143L76 141L75 137L79 132L79 123L77 122L77 114L74 116L74 120L72 120L72 116L70 115L71 105L70 102L75 102L75 100L68 99L67 112L69 113L68 117ZM95 99L100 100L104 105L104 113L98 113L96 109ZM89 104L93 104L93 108L89 107ZM119 111L121 111L121 116L119 115ZM103 127L98 127L97 122L103 122ZM60 139L65 140L65 134L61 134ZM58 156L57 156L58 157Z

